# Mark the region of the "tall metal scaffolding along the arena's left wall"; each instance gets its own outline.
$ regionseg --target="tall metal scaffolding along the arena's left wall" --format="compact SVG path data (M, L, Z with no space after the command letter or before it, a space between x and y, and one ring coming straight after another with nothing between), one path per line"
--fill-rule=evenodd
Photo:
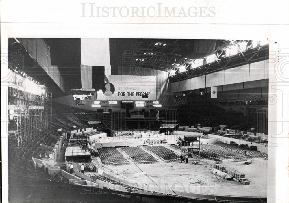
M51 92L39 86L41 91L24 90L8 87L9 160L22 160L31 155L50 132Z

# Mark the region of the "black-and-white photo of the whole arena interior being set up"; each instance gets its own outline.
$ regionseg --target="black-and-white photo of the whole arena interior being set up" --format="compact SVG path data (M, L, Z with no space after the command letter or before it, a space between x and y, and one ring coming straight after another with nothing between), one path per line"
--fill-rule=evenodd
M268 52L9 38L9 201L266 202Z

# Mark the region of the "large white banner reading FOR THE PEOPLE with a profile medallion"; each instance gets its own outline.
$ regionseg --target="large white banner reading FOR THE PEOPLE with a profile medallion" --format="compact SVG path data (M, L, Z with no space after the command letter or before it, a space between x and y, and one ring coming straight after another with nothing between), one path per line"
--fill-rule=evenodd
M156 99L156 76L108 75L97 100L151 101Z

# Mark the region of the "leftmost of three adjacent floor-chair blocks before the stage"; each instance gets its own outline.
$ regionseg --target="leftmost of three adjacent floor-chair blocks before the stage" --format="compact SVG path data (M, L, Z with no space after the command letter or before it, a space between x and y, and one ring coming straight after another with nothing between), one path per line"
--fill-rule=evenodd
M99 158L105 165L127 165L128 162L116 148L98 149Z

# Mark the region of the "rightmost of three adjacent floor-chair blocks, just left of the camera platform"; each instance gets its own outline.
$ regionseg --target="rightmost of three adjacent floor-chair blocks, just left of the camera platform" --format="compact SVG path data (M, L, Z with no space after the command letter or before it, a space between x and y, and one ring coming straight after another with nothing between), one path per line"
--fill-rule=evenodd
M163 146L144 146L144 148L146 148L147 150L157 155L166 162L177 161L177 159L179 159L179 156L177 154Z

